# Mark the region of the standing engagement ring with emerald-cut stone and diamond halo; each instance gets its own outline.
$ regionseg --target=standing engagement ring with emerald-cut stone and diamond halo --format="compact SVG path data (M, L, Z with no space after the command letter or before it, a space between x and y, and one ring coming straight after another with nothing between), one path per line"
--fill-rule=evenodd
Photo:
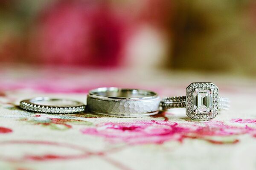
M218 97L218 87L211 82L193 82L186 88L186 96L166 97L160 102L163 111L186 108L186 115L193 120L211 120L219 110L228 110L230 100Z

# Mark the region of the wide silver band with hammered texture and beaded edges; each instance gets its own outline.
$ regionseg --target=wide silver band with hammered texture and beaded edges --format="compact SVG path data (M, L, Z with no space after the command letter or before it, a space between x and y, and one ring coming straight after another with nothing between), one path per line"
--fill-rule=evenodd
M125 88L97 88L87 95L87 108L91 113L142 117L159 110L160 97L153 91Z

